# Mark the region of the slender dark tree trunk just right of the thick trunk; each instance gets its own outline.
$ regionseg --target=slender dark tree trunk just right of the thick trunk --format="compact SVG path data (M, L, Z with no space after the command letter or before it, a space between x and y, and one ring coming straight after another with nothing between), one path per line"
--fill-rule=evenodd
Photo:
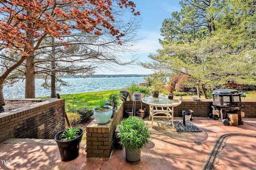
M54 43L54 38L52 38L52 43ZM55 59L55 55L56 55L56 51L55 51L55 47L52 47L52 54L51 54L51 58ZM56 69L56 61L52 61L51 62L51 69L55 70ZM51 97L57 97L56 95L56 72L52 71L51 73Z

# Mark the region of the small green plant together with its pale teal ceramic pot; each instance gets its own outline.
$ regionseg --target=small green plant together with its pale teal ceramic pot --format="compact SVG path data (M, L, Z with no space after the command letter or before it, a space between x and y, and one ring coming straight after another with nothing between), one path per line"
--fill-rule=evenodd
M105 101L100 101L98 106L94 107L93 115L97 121L98 124L106 124L109 122L113 111L113 107L108 105Z

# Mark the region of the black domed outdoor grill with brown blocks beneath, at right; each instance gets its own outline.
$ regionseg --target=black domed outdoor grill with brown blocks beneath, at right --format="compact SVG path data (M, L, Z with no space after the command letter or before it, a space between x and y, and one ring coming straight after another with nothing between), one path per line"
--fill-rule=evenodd
M240 110L243 107L241 93L233 89L221 89L213 91L212 97L213 118L217 116L223 125L237 126L238 123L243 125L244 113Z

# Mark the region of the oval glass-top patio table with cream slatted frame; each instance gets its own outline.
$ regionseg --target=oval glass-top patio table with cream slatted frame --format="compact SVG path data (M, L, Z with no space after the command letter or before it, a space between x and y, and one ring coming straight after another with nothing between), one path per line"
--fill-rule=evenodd
M159 97L144 97L141 99L143 103L149 105L149 120L152 119L151 128L153 127L154 118L169 118L172 121L172 127L174 128L173 123L173 114L174 107L181 104L181 101L178 99L168 99L168 97L159 96ZM164 114L164 116L159 116L158 114ZM157 116L158 115L158 116Z

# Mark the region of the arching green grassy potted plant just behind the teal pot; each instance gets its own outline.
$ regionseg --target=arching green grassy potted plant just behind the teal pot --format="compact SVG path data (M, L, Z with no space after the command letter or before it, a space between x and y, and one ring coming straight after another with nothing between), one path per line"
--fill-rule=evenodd
M115 116L116 109L120 105L120 101L125 101L125 97L122 93L113 92L108 95L108 105L113 107L113 113L111 117Z

